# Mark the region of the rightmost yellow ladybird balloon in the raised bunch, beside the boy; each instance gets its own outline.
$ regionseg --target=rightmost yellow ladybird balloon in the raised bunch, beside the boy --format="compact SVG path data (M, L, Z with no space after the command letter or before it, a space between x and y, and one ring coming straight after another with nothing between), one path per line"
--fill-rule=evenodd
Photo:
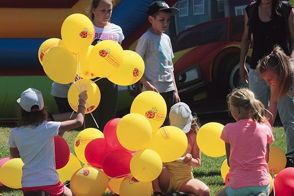
M129 86L138 82L145 71L142 57L132 50L123 50L123 63L115 73L107 78L115 84Z

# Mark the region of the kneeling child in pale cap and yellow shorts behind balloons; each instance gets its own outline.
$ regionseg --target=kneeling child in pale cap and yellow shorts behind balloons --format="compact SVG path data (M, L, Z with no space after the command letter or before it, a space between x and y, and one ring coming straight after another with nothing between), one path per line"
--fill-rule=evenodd
M201 152L196 143L199 129L197 118L192 116L189 106L183 102L178 102L171 107L169 118L172 126L176 126L186 133L188 147L183 156L176 161L163 163L159 177L152 181L153 196L188 194L210 196L207 185L195 179L192 173L193 167L198 168L201 165ZM164 193L171 194L164 195Z

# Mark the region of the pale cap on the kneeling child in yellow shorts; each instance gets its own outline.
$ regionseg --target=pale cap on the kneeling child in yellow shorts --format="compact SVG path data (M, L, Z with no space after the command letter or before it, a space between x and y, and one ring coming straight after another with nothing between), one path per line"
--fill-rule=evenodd
M170 121L172 126L182 129L188 133L191 129L193 120L192 112L189 106L184 102L178 102L171 107Z

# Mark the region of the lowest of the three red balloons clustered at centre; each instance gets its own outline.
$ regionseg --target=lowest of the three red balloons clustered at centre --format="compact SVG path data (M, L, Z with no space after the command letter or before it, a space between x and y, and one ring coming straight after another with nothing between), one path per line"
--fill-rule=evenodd
M113 150L104 156L102 169L109 177L124 177L130 174L132 155L125 150Z

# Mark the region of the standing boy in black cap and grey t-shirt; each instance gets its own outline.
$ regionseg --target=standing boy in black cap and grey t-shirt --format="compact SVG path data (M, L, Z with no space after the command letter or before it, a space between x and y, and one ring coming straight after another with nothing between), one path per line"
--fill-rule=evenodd
M165 99L167 114L174 103L180 101L173 75L173 52L171 39L164 34L170 25L171 16L179 9L169 7L165 1L155 1L149 5L148 20L152 28L138 41L136 52L145 63L145 72L141 78L143 91L155 91ZM168 115L164 125L169 125Z

